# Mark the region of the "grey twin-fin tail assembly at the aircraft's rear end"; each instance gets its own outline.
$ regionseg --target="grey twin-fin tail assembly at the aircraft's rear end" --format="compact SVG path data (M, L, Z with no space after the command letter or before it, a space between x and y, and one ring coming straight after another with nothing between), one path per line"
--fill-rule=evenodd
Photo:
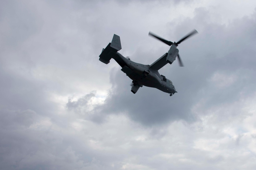
M113 53L116 53L117 51L121 50L121 41L120 36L115 35L113 36L112 42L109 43L109 45L104 49L102 49L100 54L100 61L108 64L110 59L113 58Z

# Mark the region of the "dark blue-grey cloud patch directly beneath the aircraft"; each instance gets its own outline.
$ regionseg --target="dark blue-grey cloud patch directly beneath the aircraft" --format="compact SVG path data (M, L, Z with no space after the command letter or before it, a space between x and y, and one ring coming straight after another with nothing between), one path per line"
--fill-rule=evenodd
M126 79L126 80L122 80ZM192 121L195 118L189 113L188 108L181 106L176 98L164 96L156 89L142 87L136 95L131 93L130 80L122 72L112 75L112 91L106 99L104 106L101 106L102 113L124 113L132 120L141 122L146 126L167 123L184 119ZM114 84L115 83L115 84ZM162 94L162 95L161 95ZM188 104L188 103L186 103Z

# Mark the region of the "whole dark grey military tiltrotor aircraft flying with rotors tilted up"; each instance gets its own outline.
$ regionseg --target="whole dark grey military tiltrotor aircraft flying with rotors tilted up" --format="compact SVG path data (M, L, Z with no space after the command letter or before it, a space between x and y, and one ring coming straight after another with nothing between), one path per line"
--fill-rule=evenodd
M170 96L172 96L174 93L177 93L172 81L166 79L165 76L160 75L158 70L164 67L167 63L172 64L177 56L180 66L183 67L183 63L180 59L179 50L177 49L177 46L182 41L186 40L188 37L195 33L197 33L196 30L192 31L191 33L183 37L177 43L173 43L171 41L164 40L163 38L149 32L148 35L151 35L157 38L158 40L164 42L165 44L171 46L168 53L165 53L162 57L157 59L151 65L144 65L133 62L130 60L130 58L126 58L122 56L120 53L118 53L117 51L122 49L120 37L114 34L112 42L109 43L109 45L105 49L102 49L101 54L99 56L99 60L105 64L108 64L110 62L110 59L113 58L122 67L121 70L130 79L132 79L131 91L134 94L138 91L140 87L147 86L157 88L165 93L169 93Z

